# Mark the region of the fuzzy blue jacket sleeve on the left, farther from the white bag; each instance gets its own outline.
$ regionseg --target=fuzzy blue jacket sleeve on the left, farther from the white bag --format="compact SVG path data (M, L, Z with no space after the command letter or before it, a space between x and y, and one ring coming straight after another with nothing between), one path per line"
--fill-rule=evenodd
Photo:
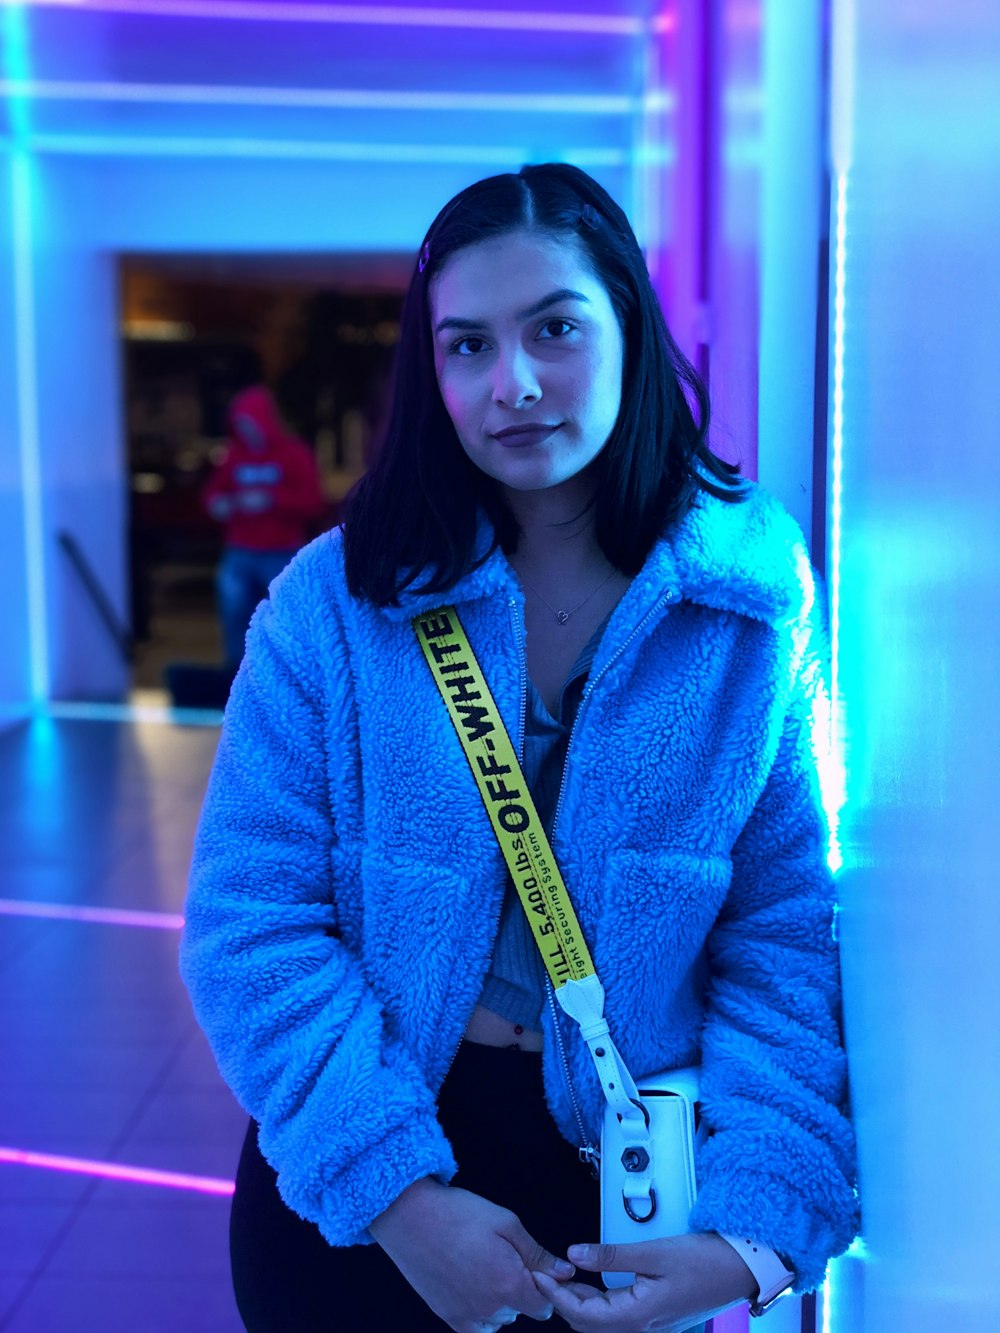
M356 764L356 717L311 551L249 631L195 844L181 973L283 1198L352 1245L412 1181L451 1178L455 1160L337 925L357 884L336 869L351 858L328 793Z

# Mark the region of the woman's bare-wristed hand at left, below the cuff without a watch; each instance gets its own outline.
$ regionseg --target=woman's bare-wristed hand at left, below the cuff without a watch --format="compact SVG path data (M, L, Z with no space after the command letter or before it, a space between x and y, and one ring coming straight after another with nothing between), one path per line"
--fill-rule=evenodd
M479 1194L425 1177L371 1224L413 1290L456 1333L495 1333L519 1314L552 1316L552 1300L532 1273L573 1274L525 1232L507 1208ZM724 1242L723 1242L724 1244Z

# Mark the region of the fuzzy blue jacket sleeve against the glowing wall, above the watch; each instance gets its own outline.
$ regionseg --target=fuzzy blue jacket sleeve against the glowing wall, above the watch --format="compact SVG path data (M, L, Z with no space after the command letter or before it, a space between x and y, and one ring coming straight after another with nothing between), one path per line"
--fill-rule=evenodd
M795 637L804 647L775 760L708 940L701 1093L712 1133L691 1225L769 1245L796 1289L811 1290L853 1238L857 1197L820 790L824 636L812 624Z

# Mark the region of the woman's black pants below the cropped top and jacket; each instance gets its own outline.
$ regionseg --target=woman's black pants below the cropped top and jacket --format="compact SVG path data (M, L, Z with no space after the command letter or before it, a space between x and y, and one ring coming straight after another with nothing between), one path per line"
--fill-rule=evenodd
M441 1088L439 1118L459 1162L456 1185L512 1209L553 1254L597 1240L597 1184L548 1113L540 1056L463 1042ZM229 1250L249 1333L447 1328L377 1245L336 1249L284 1205L253 1122L236 1173ZM528 1318L521 1324L533 1326ZM539 1328L568 1325L555 1316Z

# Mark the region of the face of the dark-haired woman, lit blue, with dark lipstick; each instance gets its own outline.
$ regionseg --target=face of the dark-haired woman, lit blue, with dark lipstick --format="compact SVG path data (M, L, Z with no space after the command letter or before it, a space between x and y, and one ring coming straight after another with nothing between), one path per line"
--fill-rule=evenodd
M617 420L624 360L580 244L517 231L468 245L429 305L437 384L476 467L512 491L579 477Z

